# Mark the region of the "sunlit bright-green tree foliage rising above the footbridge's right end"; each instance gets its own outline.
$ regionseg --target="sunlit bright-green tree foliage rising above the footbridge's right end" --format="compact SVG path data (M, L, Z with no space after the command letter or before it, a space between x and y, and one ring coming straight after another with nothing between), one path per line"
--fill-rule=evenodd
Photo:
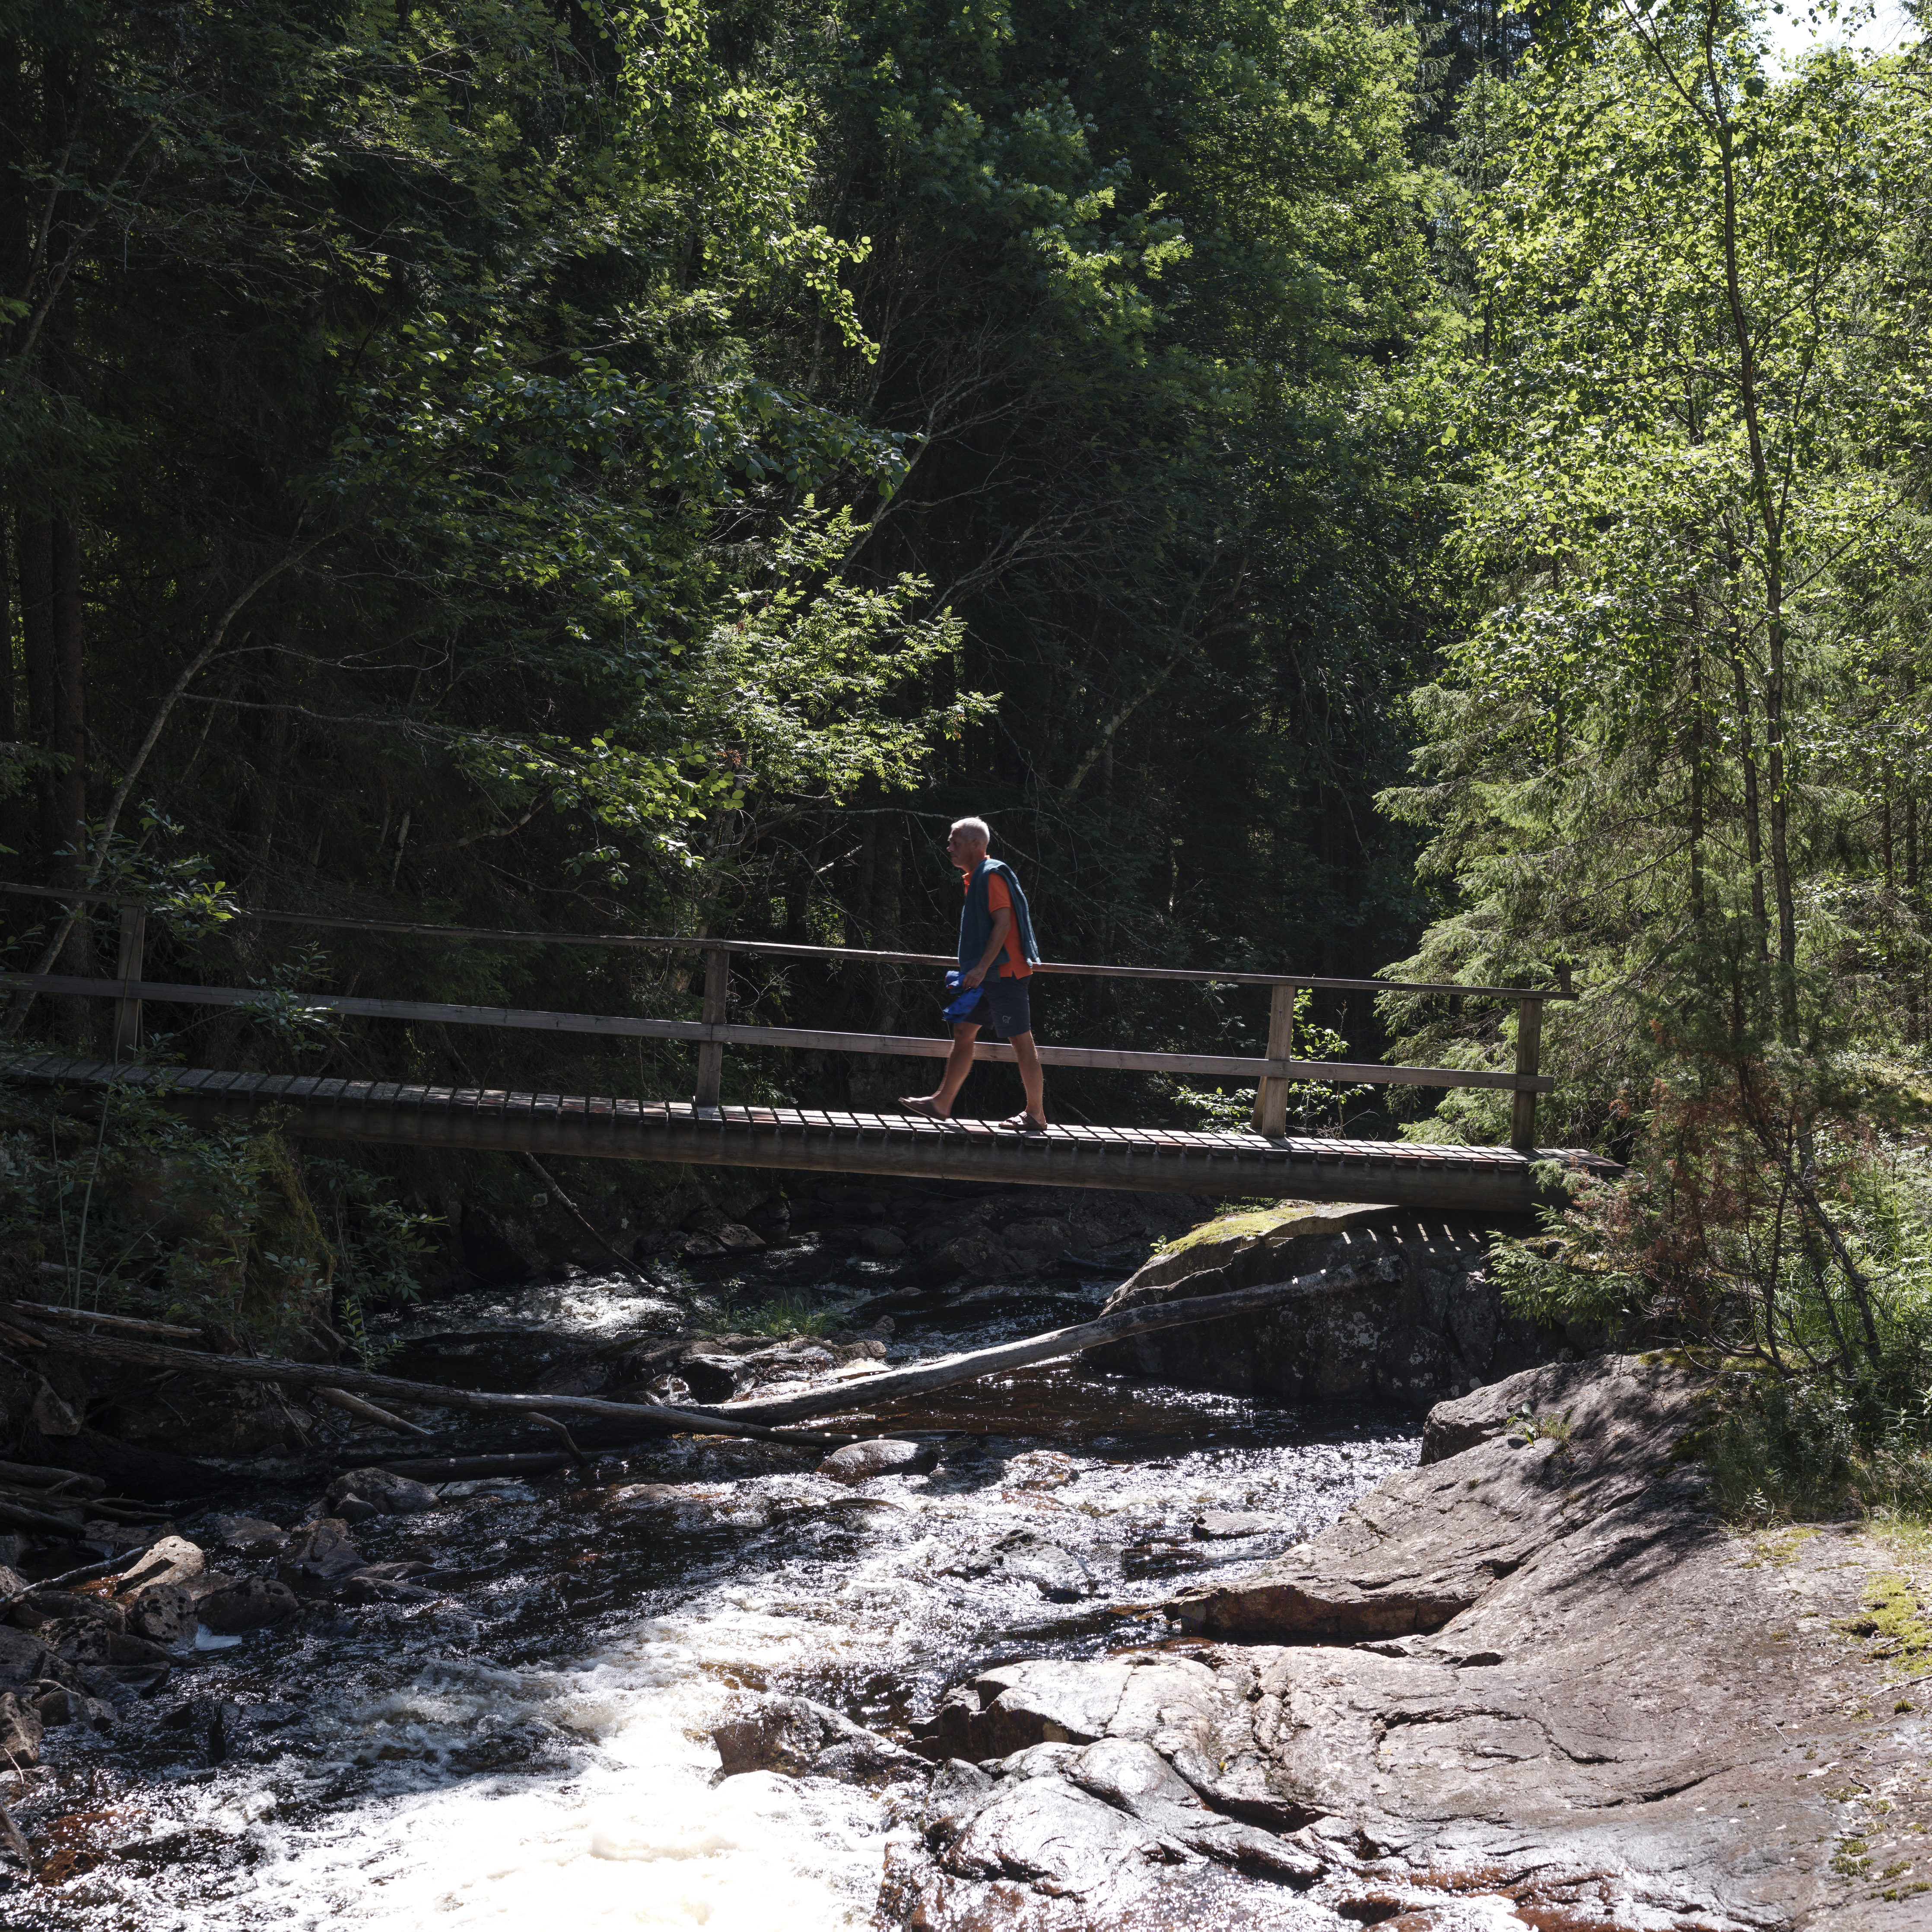
M1638 1107L1660 993L1793 1043L1822 978L1872 1039L1922 1037L1915 89L1830 52L1779 75L1710 0L1461 102L1430 394L1468 622L1410 699L1418 782L1383 798L1439 893L1391 972L1578 981L1548 1010L1549 1138ZM1511 1045L1507 1012L1385 1010L1405 1055ZM1493 1095L1443 1113L1499 1138Z

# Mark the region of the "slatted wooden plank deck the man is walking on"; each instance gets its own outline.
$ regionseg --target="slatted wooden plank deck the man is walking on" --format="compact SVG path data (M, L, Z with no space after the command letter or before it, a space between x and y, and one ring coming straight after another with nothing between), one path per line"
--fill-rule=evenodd
M1022 1186L1146 1188L1279 1200L1385 1202L1395 1208L1526 1213L1534 1161L1617 1169L1569 1148L1432 1148L1401 1140L1320 1140L1252 1132L1194 1134L1148 1126L1055 1126L1003 1134L987 1121L715 1107L516 1094L500 1088L402 1086L218 1068L116 1068L43 1055L4 1078L31 1088L149 1086L189 1119L247 1121L274 1109L305 1140L402 1142L419 1148L686 1161L697 1167L796 1167L840 1175L910 1175Z

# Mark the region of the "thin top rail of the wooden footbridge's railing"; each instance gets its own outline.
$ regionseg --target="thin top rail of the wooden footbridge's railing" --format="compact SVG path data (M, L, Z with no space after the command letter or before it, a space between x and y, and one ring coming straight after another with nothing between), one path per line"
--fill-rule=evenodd
M153 906L126 893L83 893L54 885L14 885L0 881L0 893L17 898L58 898L64 904ZM526 933L495 925L437 925L421 920L350 920L328 912L278 912L259 906L232 906L240 920L269 925L327 925L352 933L398 933L423 939L506 941L545 947L634 947L647 952L763 952L779 958L862 960L881 966L958 966L951 952L881 952L867 947L804 947L782 939L713 939L692 933ZM1086 960L1041 960L1034 972L1084 974L1094 980L1182 980L1211 985L1294 985L1339 993L1455 993L1468 999L1565 1001L1575 993L1536 985L1459 985L1424 980L1329 980L1320 974L1227 972L1213 966L1099 966Z

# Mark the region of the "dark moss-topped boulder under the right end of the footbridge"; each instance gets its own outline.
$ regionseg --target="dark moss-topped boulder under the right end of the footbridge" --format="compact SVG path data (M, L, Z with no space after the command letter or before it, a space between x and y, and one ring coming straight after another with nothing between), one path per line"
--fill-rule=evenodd
M1331 1273L1331 1291L1258 1316L1157 1329L1094 1349L1099 1368L1289 1401L1428 1406L1573 1352L1590 1337L1503 1308L1493 1221L1399 1208L1289 1206L1211 1221L1148 1262L1107 1314Z

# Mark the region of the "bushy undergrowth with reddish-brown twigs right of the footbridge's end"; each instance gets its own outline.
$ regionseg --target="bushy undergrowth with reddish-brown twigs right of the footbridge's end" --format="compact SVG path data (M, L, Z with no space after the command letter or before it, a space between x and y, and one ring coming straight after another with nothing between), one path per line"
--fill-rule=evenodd
M1505 1304L1714 1372L1731 1517L1932 1517L1932 1136L1830 1041L1663 1059L1629 1171L1497 1244Z

